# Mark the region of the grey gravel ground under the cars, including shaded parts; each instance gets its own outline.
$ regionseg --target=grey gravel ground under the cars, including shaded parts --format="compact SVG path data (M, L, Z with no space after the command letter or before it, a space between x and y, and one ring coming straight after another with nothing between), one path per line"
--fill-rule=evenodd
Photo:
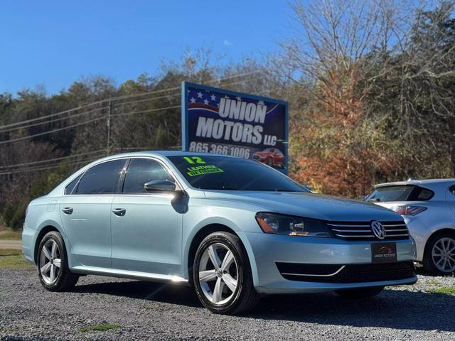
M352 302L335 294L264 298L244 316L213 315L191 288L85 276L50 293L32 269L0 269L0 340L455 340L454 277L419 276ZM102 323L117 330L82 332Z

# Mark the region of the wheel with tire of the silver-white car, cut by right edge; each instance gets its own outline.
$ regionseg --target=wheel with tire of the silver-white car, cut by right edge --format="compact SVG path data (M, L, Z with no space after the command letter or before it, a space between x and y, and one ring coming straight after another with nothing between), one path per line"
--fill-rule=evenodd
M448 259L442 255L444 248L451 255ZM434 234L427 242L422 264L428 274L444 276L455 272L455 232L439 232ZM451 251L450 251L451 250ZM439 254L441 254L439 256ZM446 263L444 263L444 258ZM443 259L441 261L441 259ZM441 261L441 262L439 262Z

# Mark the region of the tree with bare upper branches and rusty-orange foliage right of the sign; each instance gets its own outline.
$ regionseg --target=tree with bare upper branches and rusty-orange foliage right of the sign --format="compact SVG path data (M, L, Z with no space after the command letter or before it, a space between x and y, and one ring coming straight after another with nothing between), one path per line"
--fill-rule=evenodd
M272 65L308 102L291 110L291 172L324 193L358 197L395 166L395 148L380 121L366 120L367 77L390 70L373 51L401 41L398 1L333 0L294 10L299 36L282 43ZM336 181L333 179L336 178Z

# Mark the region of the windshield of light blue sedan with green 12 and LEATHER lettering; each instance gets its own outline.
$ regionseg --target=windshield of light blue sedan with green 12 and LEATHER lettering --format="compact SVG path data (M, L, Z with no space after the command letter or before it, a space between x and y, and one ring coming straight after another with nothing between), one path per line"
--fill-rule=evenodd
M194 188L309 192L287 176L251 160L210 155L168 156Z

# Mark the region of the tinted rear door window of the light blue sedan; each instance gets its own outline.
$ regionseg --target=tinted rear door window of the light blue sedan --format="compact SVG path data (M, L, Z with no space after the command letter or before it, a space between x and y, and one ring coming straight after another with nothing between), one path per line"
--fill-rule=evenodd
M117 193L120 174L126 160L113 160L90 168L77 185L76 194Z

